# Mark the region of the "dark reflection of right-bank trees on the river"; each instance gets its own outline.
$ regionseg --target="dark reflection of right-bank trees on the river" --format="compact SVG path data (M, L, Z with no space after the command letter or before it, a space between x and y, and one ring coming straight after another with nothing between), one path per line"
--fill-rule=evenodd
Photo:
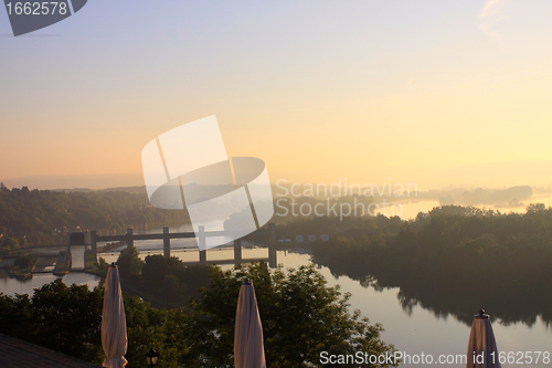
M505 326L523 323L529 327L542 320L545 326L552 323L552 295L541 287L517 285L514 281L503 280L500 288L479 283L446 283L435 277L432 282L421 283L402 277L393 272L378 271L376 275L344 264L317 260L315 263L328 266L333 277L347 276L363 288L381 292L396 290L396 298L403 312L411 316L414 307L429 311L436 318L453 316L466 326L471 326L474 312L485 308L492 311L492 317Z

